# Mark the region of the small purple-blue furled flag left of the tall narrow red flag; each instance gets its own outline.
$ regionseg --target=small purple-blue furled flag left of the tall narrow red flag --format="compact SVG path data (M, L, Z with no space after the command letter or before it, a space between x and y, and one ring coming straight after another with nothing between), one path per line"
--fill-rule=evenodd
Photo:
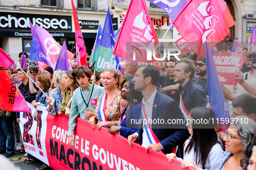
M64 40L62 44L61 52L58 55L58 60L55 66L55 70L69 71L71 70L70 61L68 61L68 49Z

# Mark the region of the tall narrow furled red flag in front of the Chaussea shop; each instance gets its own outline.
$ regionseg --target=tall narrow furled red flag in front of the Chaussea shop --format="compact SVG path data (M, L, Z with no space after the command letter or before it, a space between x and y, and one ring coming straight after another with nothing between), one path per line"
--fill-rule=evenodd
M73 0L71 0L71 3L72 3L73 17L74 17L74 22L75 22L75 47L76 47L75 51L76 51L77 64L79 66L80 61L79 61L78 53L80 54L80 60L82 60L83 57L85 57L86 48L85 48L84 38L83 38L83 35L81 32L78 15L76 13L76 9L75 9ZM82 62L81 62L81 65L82 65ZM87 62L83 62L83 65L87 66L87 68L88 68Z

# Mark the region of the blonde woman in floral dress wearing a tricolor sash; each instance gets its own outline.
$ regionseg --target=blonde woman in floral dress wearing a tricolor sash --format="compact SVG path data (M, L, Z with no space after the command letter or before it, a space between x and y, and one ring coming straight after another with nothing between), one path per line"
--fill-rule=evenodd
M120 85L122 82L121 73L116 69L105 69L100 75L102 77L103 87L106 89L104 94L101 94L97 102L97 107L94 112L95 116L89 119L89 124L92 129L95 129L94 124L97 123L97 128L110 128L118 126L121 113L126 108L127 102L121 97Z

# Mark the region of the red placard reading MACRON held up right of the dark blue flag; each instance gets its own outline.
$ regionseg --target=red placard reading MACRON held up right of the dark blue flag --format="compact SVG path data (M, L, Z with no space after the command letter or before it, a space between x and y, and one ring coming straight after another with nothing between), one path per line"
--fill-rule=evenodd
M214 63L217 69L221 85L237 85L234 72L241 69L246 56L237 53L224 52L214 53Z

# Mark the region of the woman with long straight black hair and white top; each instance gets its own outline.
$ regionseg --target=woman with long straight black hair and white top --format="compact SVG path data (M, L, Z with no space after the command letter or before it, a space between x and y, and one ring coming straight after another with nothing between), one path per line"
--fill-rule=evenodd
M173 158L181 161L181 167L191 167L195 170L216 170L221 160L223 150L218 143L217 133L214 130L214 123L194 123L193 120L210 120L214 118L214 112L205 107L196 107L191 110L188 120L188 132L191 138L185 144L183 159L176 157L176 154L167 154L168 161ZM196 121L198 122L198 121Z

